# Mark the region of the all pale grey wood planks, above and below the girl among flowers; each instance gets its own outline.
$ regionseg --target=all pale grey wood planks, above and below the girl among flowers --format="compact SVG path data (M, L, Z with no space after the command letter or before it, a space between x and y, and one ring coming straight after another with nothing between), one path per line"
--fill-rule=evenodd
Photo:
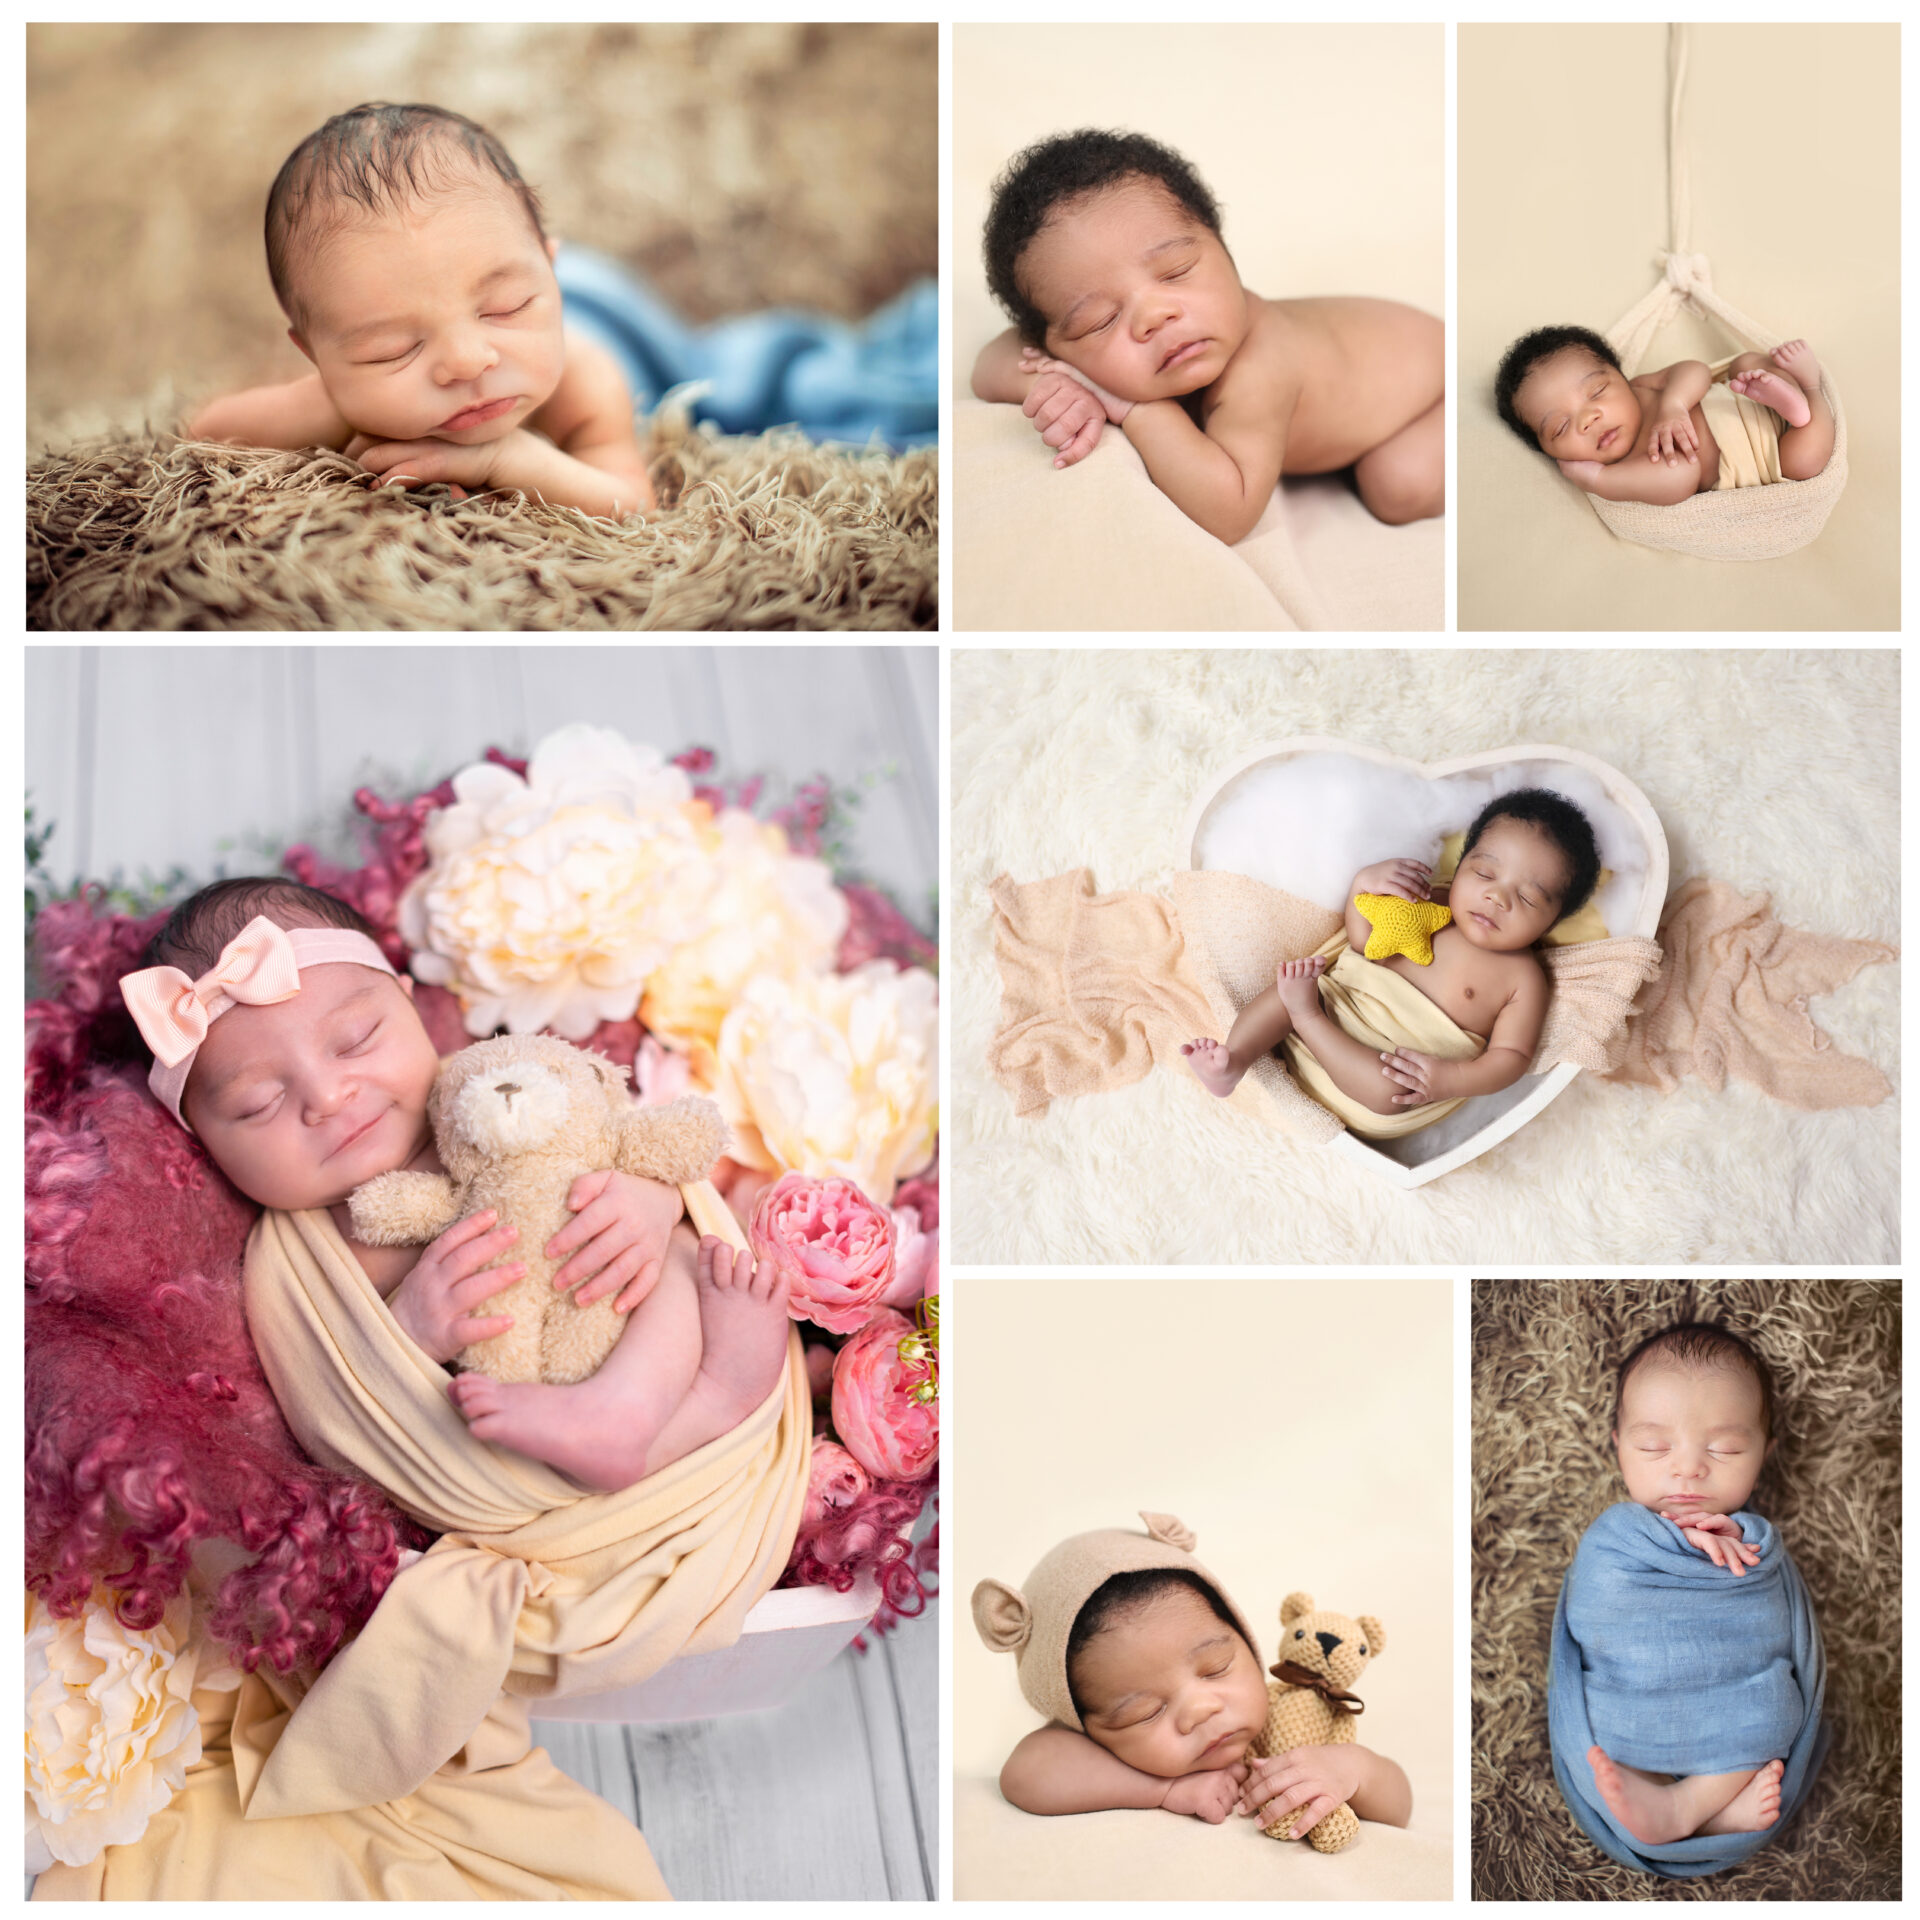
M60 879L211 879L301 839L344 852L357 785L411 793L570 720L712 747L780 797L891 768L847 843L931 929L935 647L27 647L27 791ZM772 1713L540 1732L637 1820L682 1899L939 1895L931 1609Z

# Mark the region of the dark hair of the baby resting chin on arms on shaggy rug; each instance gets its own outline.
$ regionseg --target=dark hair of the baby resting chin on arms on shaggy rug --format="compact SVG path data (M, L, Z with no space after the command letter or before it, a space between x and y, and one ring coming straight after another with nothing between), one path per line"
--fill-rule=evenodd
M540 196L486 127L445 108L372 100L309 132L286 156L267 194L267 275L296 326L305 324L305 307L294 276L321 240L346 225L346 209L359 205L378 215L455 184L457 161L447 165L455 154L465 154L474 173L505 180L545 244Z

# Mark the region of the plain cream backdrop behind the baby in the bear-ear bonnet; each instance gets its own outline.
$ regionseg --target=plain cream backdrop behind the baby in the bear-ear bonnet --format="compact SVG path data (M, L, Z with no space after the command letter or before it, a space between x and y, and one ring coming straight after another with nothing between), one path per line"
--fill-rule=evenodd
M1068 1534L1139 1526L1144 1507L1194 1530L1198 1557L1261 1636L1254 1649L1261 1667L1279 1657L1279 1607L1294 1590L1340 1613L1379 1617L1386 1644L1357 1684L1367 1703L1357 1734L1405 1768L1417 1834L1444 1839L1453 1674L1450 1284L1044 1277L972 1279L964 1292L950 1329L964 1388L947 1455L956 1791L991 1782L1016 1741L1041 1724L1014 1661L989 1653L973 1630L975 1582L1023 1586L1033 1563ZM1125 1820L1139 1828L1142 1816ZM1056 1824L1062 1847L1075 1826L1083 1822ZM1146 1828L1142 1843L1154 1832ZM962 1824L960 1897L970 1878L993 1868L968 1859L964 1834ZM1229 1860L1242 1866L1246 1851L1256 1870L1279 1870L1258 1849L1200 1836L1210 1837L1227 1843L1181 1845L1190 1839L1183 1834L1165 1843L1202 1872L1210 1859L1223 1872ZM1046 1839L1041 1832L1035 1845ZM1382 1839L1375 1853L1386 1851ZM1365 1864L1363 1849L1352 1864ZM1308 1893L1294 1878L1286 1885Z

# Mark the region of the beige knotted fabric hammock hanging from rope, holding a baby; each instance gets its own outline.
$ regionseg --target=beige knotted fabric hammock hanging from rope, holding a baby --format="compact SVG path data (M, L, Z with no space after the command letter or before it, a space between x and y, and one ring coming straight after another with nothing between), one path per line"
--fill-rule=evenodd
M1644 371L1653 336L1682 309L1716 323L1740 348L1770 353L1780 334L1749 321L1713 290L1705 253L1692 252L1692 205L1686 179L1686 142L1680 134L1680 98L1686 88L1688 29L1667 29L1667 252L1663 276L1638 305L1607 328L1607 344L1620 355L1628 376ZM1599 499L1588 493L1594 513L1642 547L1667 547L1705 561L1772 561L1809 545L1826 526L1847 484L1847 417L1839 411L1834 376L1820 374L1820 392L1834 409L1834 457L1812 480L1778 480L1722 493L1695 493L1674 507L1649 507L1638 499Z

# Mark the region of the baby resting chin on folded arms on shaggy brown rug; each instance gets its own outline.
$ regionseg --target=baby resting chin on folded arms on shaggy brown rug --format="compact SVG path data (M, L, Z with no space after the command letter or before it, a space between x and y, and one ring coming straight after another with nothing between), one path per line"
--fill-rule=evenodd
M563 326L540 202L484 127L430 106L336 113L267 196L267 273L313 372L209 401L188 438L332 447L384 486L653 509L634 396Z

